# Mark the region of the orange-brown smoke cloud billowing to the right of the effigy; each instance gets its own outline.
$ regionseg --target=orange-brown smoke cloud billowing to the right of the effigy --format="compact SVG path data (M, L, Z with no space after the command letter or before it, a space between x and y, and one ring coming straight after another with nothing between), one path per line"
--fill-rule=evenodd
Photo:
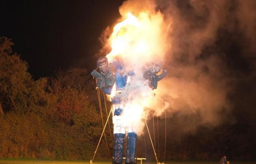
M184 125L189 127L186 130L222 123L233 109L230 94L236 87L234 84L242 79L241 71L246 67L255 69L256 2L159 0L156 3L165 21L172 22L172 31L167 34L172 47L165 55L169 74L157 90L159 94L166 90L170 116L175 113L180 117L192 116L186 117L193 120L192 125ZM239 44L242 46L232 49ZM254 59L249 61L248 55ZM255 73L250 76L255 77ZM232 116L229 118L234 121Z

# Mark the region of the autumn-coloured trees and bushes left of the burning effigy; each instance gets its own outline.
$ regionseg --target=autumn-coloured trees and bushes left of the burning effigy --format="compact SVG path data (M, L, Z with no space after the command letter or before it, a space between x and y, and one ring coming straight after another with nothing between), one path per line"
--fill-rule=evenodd
M102 126L87 70L35 81L13 45L0 38L0 157L89 159Z

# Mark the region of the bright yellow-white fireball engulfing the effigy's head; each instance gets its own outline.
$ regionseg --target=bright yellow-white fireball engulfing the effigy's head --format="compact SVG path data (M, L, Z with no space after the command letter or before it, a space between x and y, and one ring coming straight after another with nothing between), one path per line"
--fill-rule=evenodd
M162 22L160 13L150 15L147 12L141 12L138 17L135 17L129 12L125 20L114 26L109 39L112 51L106 57L112 61L112 58L117 55L133 60L148 59L152 54L161 56L164 37L161 36Z

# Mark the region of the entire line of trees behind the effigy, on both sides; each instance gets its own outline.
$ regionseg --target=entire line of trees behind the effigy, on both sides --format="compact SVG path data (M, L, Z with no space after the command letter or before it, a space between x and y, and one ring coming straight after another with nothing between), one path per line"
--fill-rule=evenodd
M78 68L56 69L52 77L34 80L28 63L12 51L13 45L11 39L0 37L0 158L90 159L102 132L94 80L86 69ZM105 122L106 112L102 112ZM159 117L159 132L153 140L160 162L164 156L165 160L217 160L223 155L233 160L256 159L256 120L246 117L242 124L230 124L227 118L216 127L180 133L185 118L178 113L167 118L164 152L165 121ZM112 152L111 122L107 142L103 138L96 158L109 158L106 148ZM153 136L152 118L148 124ZM137 156L154 160L146 129L138 137Z

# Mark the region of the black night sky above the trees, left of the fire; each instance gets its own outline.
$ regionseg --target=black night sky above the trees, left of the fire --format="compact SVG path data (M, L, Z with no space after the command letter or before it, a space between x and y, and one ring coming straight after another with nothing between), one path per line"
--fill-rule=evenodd
M95 67L102 31L120 16L122 0L1 1L0 36L29 64L35 79L58 67Z

